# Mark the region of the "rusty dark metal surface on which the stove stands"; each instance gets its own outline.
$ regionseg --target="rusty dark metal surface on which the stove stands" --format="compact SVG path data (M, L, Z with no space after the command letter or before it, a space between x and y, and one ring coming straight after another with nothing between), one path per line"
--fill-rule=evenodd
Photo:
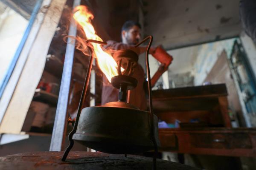
M61 161L63 152L29 152L0 157L1 170L151 170L152 158L113 155L82 151L70 152ZM199 170L171 161L157 159L158 170Z

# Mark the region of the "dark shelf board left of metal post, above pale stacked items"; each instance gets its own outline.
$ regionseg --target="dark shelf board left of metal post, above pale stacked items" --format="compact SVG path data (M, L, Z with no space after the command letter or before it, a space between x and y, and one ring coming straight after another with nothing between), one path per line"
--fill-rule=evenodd
M35 90L33 100L38 102L50 103L52 105L57 105L58 96L55 94L51 94L49 92L43 91L40 88L37 88Z

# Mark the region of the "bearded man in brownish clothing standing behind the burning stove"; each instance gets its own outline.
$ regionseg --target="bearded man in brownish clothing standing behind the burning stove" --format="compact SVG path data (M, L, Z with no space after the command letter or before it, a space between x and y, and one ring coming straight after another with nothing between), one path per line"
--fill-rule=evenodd
M106 49L113 49L113 50L120 50L120 49L131 49L135 51L138 55L144 53L147 50L146 46L139 46L134 47L138 42L140 42L141 34L140 30L141 26L139 23L135 21L127 21L122 26L122 42L115 42L115 41L108 41L108 45L105 46ZM156 51L156 48L151 47L149 50L149 53L154 56L154 53ZM166 53L167 54L167 53ZM172 60L172 57L169 59ZM153 87L154 84L157 82L157 79L160 78L160 76L168 69L169 65L160 65L160 68L158 69L157 73L154 75L154 77L151 79L151 86ZM140 64L137 65L137 67L134 70L134 74L132 75L134 78L138 80L137 87L131 90L130 94L130 103L132 105L137 106L141 110L147 109L147 99L145 95L145 89L144 89L144 70ZM114 88L107 80L105 76L103 76L103 87L102 87L102 105L104 105L107 102L114 102L118 101L118 92L119 90Z

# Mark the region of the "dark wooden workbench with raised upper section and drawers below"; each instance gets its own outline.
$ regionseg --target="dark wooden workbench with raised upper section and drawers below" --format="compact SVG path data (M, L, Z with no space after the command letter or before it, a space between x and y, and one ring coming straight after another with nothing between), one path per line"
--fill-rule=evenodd
M231 127L227 95L225 84L152 91L158 118L168 123L178 119L184 125L159 130L160 150L256 156L256 129ZM189 123L191 119L199 123Z

